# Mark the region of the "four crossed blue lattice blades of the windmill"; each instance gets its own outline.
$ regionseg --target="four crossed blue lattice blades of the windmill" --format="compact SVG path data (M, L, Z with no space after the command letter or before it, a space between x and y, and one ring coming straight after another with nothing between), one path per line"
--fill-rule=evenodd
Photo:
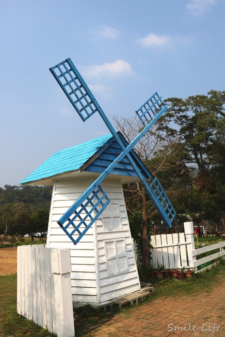
M124 157L129 160L134 171L144 185L146 193L152 203L158 210L166 225L170 228L176 212L174 211L165 191L163 190L159 180L157 178L153 179L150 173L148 174L148 178L152 181L150 185L148 185L146 178L141 173L131 155L133 147L167 110L167 106L162 102L162 97L155 92L136 111L138 117L144 125L144 128L130 144L125 144L111 125L107 116L101 109L101 106L96 101L70 58L50 68L50 71L81 119L85 122L94 113L98 112L109 131L114 136L114 139L117 141L118 146L122 149L120 153L115 154L114 161L107 167L107 169L86 189L78 200L57 221L65 234L76 245L91 225L106 209L110 203L110 199L107 197L100 184ZM78 219L79 223L77 224ZM78 234L76 239L73 237L75 233Z

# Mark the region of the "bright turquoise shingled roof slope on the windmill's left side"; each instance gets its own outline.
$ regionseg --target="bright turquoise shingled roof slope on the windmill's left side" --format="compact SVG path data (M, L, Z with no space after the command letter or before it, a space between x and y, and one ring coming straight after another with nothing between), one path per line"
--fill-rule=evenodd
M55 152L20 184L55 176L60 173L79 170L99 148L112 138L112 134L93 139L83 144Z

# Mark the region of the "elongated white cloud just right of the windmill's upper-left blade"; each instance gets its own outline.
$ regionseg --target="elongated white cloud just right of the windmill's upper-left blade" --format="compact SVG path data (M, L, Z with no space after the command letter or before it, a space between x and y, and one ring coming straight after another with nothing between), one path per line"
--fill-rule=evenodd
M112 63L103 63L102 65L91 65L85 69L86 76L105 76L105 75L120 75L133 74L130 63L123 60L117 60Z

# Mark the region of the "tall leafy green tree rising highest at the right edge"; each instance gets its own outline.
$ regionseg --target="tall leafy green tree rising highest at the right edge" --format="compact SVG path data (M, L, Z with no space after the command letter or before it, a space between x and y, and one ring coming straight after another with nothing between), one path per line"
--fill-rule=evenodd
M164 122L175 123L179 140L184 144L186 163L196 163L199 170L199 188L213 188L210 168L215 165L220 125L224 125L225 91L211 90L207 95L189 96L186 99L168 98ZM214 161L213 161L214 157Z

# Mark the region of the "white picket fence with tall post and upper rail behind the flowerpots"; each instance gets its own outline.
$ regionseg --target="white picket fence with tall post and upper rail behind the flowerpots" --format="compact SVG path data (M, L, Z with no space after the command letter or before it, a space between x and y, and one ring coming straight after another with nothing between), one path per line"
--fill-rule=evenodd
M161 234L151 236L151 263L154 266L164 265L166 269L197 267L225 255L225 241L195 249L193 222L184 223L185 233ZM196 260L199 254L220 249L219 252Z

